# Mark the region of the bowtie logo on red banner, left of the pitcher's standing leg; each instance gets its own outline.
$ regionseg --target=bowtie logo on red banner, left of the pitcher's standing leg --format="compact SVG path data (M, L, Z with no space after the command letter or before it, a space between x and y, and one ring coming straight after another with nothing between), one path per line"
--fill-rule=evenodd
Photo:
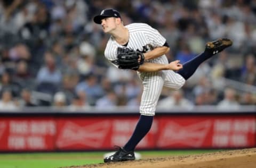
M57 138L57 146L68 147L71 145L82 145L99 148L102 146L109 128L109 121L93 123L83 127L73 122L66 122L60 130L60 135Z

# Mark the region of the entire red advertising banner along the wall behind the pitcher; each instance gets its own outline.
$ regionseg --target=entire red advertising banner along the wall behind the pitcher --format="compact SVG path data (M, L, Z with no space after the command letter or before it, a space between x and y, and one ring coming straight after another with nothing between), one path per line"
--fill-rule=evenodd
M103 150L123 146L138 116L0 117L0 151ZM254 115L155 116L137 149L256 146Z

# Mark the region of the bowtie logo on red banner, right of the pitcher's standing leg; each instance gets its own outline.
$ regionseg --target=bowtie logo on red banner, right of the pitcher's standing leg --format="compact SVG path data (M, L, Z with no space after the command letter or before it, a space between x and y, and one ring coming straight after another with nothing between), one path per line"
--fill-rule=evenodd
M168 122L161 135L159 135L157 146L165 147L179 144L199 147L202 145L210 128L211 121L203 121L185 126L175 122Z

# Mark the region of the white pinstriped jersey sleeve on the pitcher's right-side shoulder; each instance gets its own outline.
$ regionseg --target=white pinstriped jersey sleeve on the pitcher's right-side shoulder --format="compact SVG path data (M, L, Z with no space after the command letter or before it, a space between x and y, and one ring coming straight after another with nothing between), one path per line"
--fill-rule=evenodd
M166 39L159 33L158 30L152 28L151 26L147 25L147 29L143 31L146 38L150 41L154 47L162 47L166 43Z

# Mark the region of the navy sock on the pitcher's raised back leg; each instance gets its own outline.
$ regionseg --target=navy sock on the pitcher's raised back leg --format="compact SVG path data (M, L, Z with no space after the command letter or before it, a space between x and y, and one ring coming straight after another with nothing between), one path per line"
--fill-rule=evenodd
M210 58L212 55L203 52L197 56L195 56L192 60L187 61L183 64L183 68L179 70L179 73L184 79L188 79L193 75L198 68L198 66L203 63L205 60Z

